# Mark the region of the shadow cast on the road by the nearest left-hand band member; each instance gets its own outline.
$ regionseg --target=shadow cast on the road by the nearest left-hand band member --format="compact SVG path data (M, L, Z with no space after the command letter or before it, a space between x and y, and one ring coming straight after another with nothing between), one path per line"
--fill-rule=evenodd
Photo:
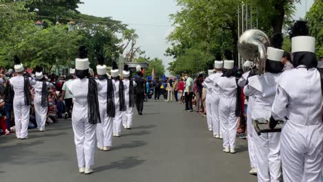
M95 172L103 172L111 169L126 170L140 165L141 163L144 163L144 161L146 160L139 160L137 156L127 156L121 161L115 161L110 163L109 165L102 165L98 168L95 168Z

